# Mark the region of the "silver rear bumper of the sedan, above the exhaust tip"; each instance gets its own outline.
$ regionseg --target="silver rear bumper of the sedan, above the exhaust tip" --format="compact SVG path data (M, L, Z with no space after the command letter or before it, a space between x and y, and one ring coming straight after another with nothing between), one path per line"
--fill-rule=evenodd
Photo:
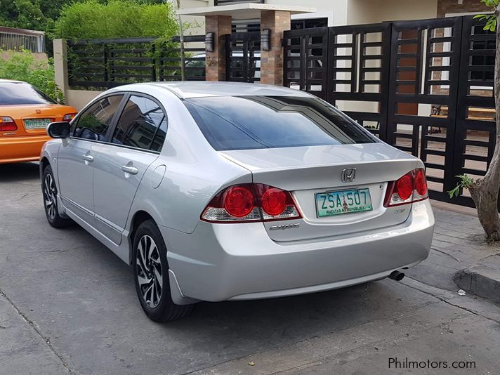
M313 293L387 277L427 258L433 228L427 199L413 204L400 225L315 241L274 242L263 223L200 222L191 234L160 230L178 295L225 301Z

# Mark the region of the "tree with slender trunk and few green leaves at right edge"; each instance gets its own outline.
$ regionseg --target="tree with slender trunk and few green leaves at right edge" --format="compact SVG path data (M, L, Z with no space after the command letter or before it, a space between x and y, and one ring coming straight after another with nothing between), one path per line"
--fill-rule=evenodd
M499 0L482 0L482 3L492 8L494 13L479 15L476 18L486 20L485 29L496 32L496 54L494 66L494 97L496 107L496 144L492 162L484 178L473 180L466 175L458 176L460 183L449 192L450 197L459 194L461 187L471 192L478 218L485 230L487 239L500 241L500 217L498 213L498 198L500 189L500 4Z

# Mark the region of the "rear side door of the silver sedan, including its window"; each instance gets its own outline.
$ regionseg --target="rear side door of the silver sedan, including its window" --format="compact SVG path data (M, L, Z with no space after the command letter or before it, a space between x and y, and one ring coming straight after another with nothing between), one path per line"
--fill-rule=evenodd
M94 167L96 228L115 244L121 243L133 197L147 168L159 156L166 135L162 107L132 94L103 145Z

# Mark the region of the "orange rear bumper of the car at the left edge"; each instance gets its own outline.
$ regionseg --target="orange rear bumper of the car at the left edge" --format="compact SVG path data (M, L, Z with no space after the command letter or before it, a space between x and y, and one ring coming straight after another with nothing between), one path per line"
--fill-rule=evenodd
M39 160L41 147L50 139L48 136L0 138L0 164Z

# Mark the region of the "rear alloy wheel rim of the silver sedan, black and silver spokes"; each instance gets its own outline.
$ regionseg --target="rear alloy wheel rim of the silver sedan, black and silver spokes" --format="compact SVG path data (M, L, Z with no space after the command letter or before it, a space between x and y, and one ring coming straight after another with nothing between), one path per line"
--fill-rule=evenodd
M148 235L140 237L137 245L136 277L145 303L157 307L162 298L162 262L154 239Z

